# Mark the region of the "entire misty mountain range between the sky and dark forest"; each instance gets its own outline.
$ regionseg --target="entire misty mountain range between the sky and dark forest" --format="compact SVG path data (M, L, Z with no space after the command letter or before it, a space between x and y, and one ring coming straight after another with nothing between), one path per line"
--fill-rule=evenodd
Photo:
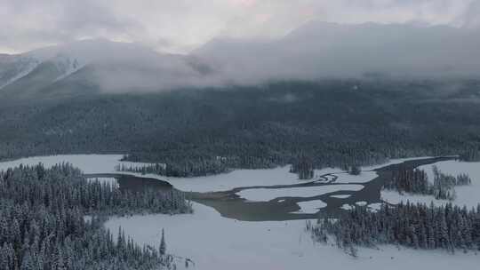
M215 38L189 55L85 40L0 55L0 97L162 91L325 77L474 77L480 30L311 21L277 39Z

